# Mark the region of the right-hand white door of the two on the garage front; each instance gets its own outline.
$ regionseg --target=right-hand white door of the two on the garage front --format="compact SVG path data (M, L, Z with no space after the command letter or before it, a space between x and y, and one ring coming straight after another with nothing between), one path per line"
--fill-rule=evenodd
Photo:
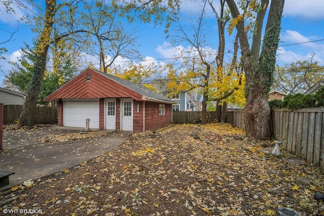
M121 131L133 131L133 99L121 100Z

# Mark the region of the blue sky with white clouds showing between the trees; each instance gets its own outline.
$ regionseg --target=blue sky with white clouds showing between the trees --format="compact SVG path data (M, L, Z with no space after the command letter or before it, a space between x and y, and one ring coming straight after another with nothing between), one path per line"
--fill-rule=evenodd
M14 1L15 2L15 1ZM35 11L30 5L30 10ZM186 1L181 7L181 14L179 22L181 25L190 24L194 19L194 15L200 12L201 5L199 3L188 3ZM214 1L218 2L218 1ZM217 26L215 16L208 8L206 16L207 25L210 29L208 46L210 49L217 50ZM306 60L310 57L311 53L315 53L315 60L318 61L320 66L324 66L324 1L319 0L286 0L284 8L284 17L282 18L282 30L280 33L280 43L277 51L277 64L283 66L290 64L297 60ZM35 11L36 12L36 11ZM24 42L31 45L33 33L28 24L20 22L22 15L30 13L30 11L17 10L15 15L8 15L5 10L0 6L0 42L6 41L9 32L18 32L13 35L13 38L3 44L8 52L5 54L7 61L15 61L20 56L19 50L24 47ZM187 49L186 44L175 45L171 44L171 38L166 39L164 33L164 26L156 26L153 24L136 24L138 25L139 39L137 43L143 59L148 60L144 62L154 62L155 64L163 64L166 59L174 58L179 50ZM177 27L178 24L175 24ZM19 28L18 28L19 27ZM170 35L175 34L171 29ZM233 36L231 36L233 37ZM229 37L229 38L231 38ZM232 39L232 38L231 38ZM312 42L313 41L313 42ZM0 45L1 46L1 45ZM89 59L94 59L89 56ZM119 58L119 61L125 59ZM96 61L96 60L94 60ZM137 62L138 63L138 62ZM7 74L9 68L8 63L0 60L0 85L4 75ZM85 65L85 68L88 65Z

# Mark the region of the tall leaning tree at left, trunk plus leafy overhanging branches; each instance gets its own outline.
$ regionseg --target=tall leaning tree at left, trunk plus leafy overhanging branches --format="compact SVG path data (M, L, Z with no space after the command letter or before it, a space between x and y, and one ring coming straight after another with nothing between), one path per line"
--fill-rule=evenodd
M119 9L120 15L126 17L128 20L133 21L134 17L138 17L139 20L143 22L151 21L151 17L154 13L155 24L161 23L165 20L164 15L166 12L170 11L170 14L167 16L167 26L170 21L175 19L175 14L179 11L180 1L171 1L175 4L167 4L161 3L159 0L140 0L140 1L112 1L110 4ZM32 3L32 1L30 0ZM96 1L98 3L102 3L104 1ZM36 61L34 62L32 69L31 82L29 85L28 92L26 94L26 100L23 106L23 110L20 116L19 125L33 125L33 119L35 115L35 109L37 103L37 96L41 89L41 84L43 81L43 77L46 70L46 63L48 58L48 51L50 49L50 45L55 41L59 40L71 40L73 42L83 42L87 45L87 38L83 37L89 33L90 29L79 29L75 26L75 21L77 20L76 10L80 9L82 11L83 8L80 8L79 5L86 5L88 1L70 1L63 2L61 4L57 4L56 0L46 0L45 1L45 13L41 15L38 13L35 16L36 21L34 23L38 25L34 25L32 28L34 32L36 32L37 38L37 46L35 49L36 53ZM8 7L10 8L10 4L13 4L11 1L8 1ZM39 11L42 11L42 6L35 5L35 8L38 8ZM159 8L157 11L156 8ZM65 10L64 10L65 9ZM172 12L175 11L175 12ZM143 12L143 13L138 13ZM129 14L128 14L129 13ZM172 14L173 13L173 14ZM82 13L79 13L82 14ZM78 14L78 15L79 15ZM55 28L53 26L55 25ZM60 29L60 33L54 34L53 29ZM57 31L58 32L58 31ZM64 33L62 33L64 32ZM81 36L81 37L79 37ZM108 35L106 35L108 36ZM112 39L118 39L120 37L113 37ZM111 38L110 38L111 39ZM123 45L124 46L124 45ZM78 49L84 49L83 46L78 46Z

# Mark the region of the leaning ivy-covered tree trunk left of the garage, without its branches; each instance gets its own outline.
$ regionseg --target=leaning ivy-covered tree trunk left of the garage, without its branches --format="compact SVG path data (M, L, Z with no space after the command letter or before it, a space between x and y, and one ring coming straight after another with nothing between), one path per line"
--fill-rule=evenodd
M42 33L36 41L35 53L37 55L33 69L29 90L26 95L24 106L19 118L19 126L32 126L34 124L35 109L41 84L43 81L47 53L50 47L50 38L53 26L53 17L55 16L56 1L46 1L45 22Z

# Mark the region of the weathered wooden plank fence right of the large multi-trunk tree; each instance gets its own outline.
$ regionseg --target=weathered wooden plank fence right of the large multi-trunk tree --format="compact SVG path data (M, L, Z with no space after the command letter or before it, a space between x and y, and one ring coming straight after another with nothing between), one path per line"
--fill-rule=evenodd
M324 167L324 108L272 109L273 137L287 151Z

